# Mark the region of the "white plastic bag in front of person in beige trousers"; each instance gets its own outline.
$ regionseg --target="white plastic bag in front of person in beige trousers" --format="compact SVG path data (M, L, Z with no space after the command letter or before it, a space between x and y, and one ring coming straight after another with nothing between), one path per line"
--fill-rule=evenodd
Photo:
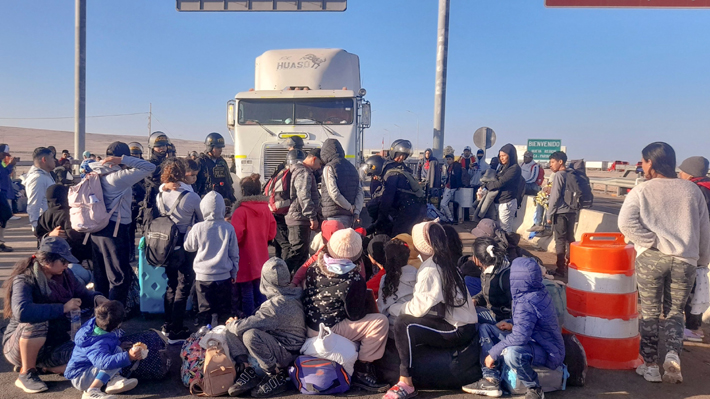
M353 375L357 361L357 345L349 339L340 336L330 327L321 323L318 336L308 338L301 347L301 353L320 359L332 360Z

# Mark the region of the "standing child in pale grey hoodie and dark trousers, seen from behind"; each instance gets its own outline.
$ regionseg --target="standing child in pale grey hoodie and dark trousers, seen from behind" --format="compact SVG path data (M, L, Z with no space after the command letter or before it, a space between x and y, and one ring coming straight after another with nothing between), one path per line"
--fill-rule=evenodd
M196 223L185 238L185 251L197 252L195 291L197 319L210 323L212 314L222 320L231 311L232 283L237 282L239 242L231 223L224 220L225 204L222 196L210 191L202 198L200 210L204 222Z

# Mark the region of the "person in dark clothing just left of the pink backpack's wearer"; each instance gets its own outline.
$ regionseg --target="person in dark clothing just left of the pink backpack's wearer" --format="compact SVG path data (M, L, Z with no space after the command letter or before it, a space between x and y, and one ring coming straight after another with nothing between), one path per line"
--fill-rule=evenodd
M47 188L48 208L37 222L35 235L37 243L44 237L61 237L67 240L71 252L81 263L91 260L91 242L84 244L84 234L72 229L69 220L69 187L53 184Z

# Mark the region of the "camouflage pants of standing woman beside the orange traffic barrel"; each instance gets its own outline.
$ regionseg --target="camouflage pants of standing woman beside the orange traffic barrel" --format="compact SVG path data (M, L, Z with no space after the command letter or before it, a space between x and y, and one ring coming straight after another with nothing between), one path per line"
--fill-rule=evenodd
M663 326L666 350L681 353L683 307L695 283L695 269L696 266L655 249L649 249L636 258L641 300L641 356L647 363L658 362L658 324L664 297L670 298Z

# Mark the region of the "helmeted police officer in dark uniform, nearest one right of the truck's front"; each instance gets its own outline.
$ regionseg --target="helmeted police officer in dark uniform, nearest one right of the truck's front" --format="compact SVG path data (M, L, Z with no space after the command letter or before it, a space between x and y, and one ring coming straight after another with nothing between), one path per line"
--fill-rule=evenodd
M368 228L368 233L381 231L390 237L411 234L412 227L426 216L424 190L412 170L404 164L411 153L412 143L409 140L395 140L390 146L388 160L382 165L380 174L382 183L373 195L373 201L378 206L377 218L373 218L374 223ZM373 174L379 171L379 163L379 160L373 160Z

